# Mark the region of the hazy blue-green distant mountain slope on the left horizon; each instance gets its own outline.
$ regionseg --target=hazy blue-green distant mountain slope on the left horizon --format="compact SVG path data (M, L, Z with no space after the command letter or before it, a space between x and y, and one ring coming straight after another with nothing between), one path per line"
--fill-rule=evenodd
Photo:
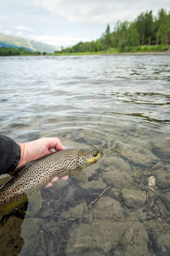
M0 33L0 47L13 47L17 49L22 47L30 52L48 52L53 53L56 50L60 50L61 47L55 47L49 44L42 44L41 42L20 38L14 35L5 35Z

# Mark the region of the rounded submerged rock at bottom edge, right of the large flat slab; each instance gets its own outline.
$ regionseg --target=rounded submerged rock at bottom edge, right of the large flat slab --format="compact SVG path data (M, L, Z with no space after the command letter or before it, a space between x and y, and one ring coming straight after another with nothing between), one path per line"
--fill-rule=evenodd
M148 247L149 237L144 225L134 222L125 230L114 256L152 256Z

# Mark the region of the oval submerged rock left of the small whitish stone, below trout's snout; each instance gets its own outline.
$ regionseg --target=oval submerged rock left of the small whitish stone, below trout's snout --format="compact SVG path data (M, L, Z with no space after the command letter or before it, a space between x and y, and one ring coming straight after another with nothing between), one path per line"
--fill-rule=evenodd
M112 185L116 189L122 189L130 186L130 183L133 181L130 172L122 172L120 170L112 171L112 166L107 168L105 171L106 172L102 174L103 181L108 185Z

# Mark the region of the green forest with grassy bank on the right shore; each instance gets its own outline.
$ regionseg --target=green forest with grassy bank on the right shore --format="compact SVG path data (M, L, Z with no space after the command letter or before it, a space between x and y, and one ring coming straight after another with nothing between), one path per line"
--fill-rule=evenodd
M117 21L113 31L107 25L105 32L96 41L82 42L54 53L99 52L112 49L113 52L135 52L165 50L170 43L170 12L160 9L142 12L134 21Z

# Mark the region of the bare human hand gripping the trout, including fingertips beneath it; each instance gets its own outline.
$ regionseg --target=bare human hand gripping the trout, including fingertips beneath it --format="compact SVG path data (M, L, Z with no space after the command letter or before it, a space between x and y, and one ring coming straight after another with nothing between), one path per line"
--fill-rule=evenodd
M54 148L55 150L62 150L65 147L62 145L61 141L58 138L41 138L39 140L34 140L28 143L18 143L21 148L21 158L18 163L18 167L22 166L25 163L34 161L40 157L44 157L48 154L53 153L51 150ZM62 177L62 180L67 180L68 175ZM53 183L59 180L58 177L54 177L51 179L51 182L46 184L46 188L52 186Z

